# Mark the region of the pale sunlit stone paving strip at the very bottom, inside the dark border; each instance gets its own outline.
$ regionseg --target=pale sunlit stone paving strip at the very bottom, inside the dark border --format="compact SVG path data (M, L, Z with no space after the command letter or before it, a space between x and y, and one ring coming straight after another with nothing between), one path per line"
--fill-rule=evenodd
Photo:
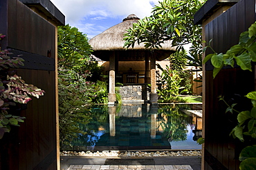
M126 169L126 170L153 170L153 169L170 169L170 170L193 170L190 165L71 165L68 170L85 170L85 169Z

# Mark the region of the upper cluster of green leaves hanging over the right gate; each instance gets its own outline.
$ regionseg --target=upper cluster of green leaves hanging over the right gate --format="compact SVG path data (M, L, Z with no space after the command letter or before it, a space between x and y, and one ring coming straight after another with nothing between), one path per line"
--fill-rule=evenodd
M210 47L209 42L209 45L206 46L205 49L210 47L214 54L208 54L208 56L205 56L203 63L206 63L208 60L211 61L214 66L213 77L217 76L224 65L234 67L235 61L242 70L252 71L251 62L256 61L256 34L253 34L254 32L256 32L256 22L250 26L248 31L240 34L239 43L230 47L230 50L228 50L226 54L217 54L217 52L214 52L212 47Z

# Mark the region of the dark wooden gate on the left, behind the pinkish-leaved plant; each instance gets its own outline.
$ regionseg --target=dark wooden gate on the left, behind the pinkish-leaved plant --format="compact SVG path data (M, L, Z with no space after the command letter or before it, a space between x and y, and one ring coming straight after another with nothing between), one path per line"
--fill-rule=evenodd
M17 74L46 92L17 111L25 123L0 140L0 169L60 169L57 25L64 25L64 15L49 0L1 0L0 21L2 50L25 60Z

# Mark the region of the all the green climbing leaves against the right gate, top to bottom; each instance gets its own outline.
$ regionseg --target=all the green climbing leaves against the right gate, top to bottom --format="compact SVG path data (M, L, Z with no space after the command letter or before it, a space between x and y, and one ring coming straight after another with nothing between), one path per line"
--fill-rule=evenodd
M230 65L234 67L235 63L241 67L242 70L250 70L252 71L251 62L256 61L256 22L253 23L248 31L242 32L239 37L239 43L230 47L230 50L226 52L226 54L214 52L212 47L209 45L205 47L210 47L214 54L208 54L205 56L203 63L207 61L211 61L214 66L213 77L217 76L217 74L221 71L221 68L224 65ZM204 50L205 50L204 49ZM253 108L248 111L237 111L234 109L235 105L231 106L226 103L226 101L221 96L220 100L223 100L226 105L228 105L227 111L231 113L233 111L237 111L239 114L237 115L238 125L232 129L230 135L234 138L239 138L242 142L244 142L244 136L249 136L255 142L256 138L256 91L249 92L246 95L247 98L251 99L253 104ZM248 140L248 139L247 139ZM249 139L250 140L250 139ZM256 145L245 147L239 156L239 160L241 164L239 166L240 169L255 169L256 168Z

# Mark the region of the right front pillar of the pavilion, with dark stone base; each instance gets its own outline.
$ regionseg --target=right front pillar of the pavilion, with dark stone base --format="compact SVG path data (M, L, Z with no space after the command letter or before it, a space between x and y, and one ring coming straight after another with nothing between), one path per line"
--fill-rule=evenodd
M158 95L156 94L156 56L150 57L150 83L151 93L149 94L149 102L152 105L158 105Z

